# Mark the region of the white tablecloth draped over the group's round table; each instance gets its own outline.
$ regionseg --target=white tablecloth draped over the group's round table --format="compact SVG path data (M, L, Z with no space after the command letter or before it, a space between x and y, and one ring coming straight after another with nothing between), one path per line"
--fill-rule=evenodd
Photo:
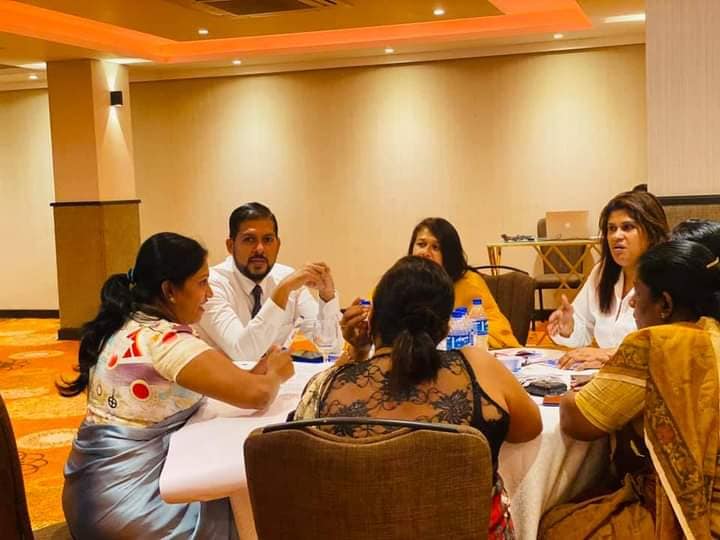
M173 434L160 476L167 502L230 497L241 540L256 538L245 478L243 444L261 426L284 422L305 383L322 365L296 364L266 411L207 402ZM503 445L500 474L511 497L517 537L535 539L542 513L592 485L605 471L606 441L584 443L560 432L558 407L541 407L543 432L523 444Z

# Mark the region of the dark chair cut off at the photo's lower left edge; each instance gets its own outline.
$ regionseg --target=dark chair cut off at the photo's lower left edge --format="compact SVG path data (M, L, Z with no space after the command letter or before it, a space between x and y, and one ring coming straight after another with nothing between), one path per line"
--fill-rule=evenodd
M10 423L10 414L2 394L0 394L0 538L33 540L20 458ZM64 523L57 523L35 531L34 538L65 540L72 537Z

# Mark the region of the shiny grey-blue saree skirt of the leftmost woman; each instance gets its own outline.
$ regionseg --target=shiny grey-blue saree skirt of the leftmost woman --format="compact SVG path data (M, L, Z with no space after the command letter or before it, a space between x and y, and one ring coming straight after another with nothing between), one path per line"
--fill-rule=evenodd
M83 423L63 491L75 538L237 538L228 499L167 504L160 498L170 435L196 409L147 428Z

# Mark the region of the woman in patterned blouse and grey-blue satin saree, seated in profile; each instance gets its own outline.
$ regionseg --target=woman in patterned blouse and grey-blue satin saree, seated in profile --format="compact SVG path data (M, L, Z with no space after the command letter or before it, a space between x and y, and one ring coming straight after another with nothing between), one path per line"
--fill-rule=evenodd
M237 538L228 499L162 500L170 436L203 395L266 407L292 362L273 352L245 371L195 336L188 325L212 295L206 256L189 238L152 236L133 271L107 280L100 311L83 329L79 376L58 385L63 395L88 397L65 466L63 509L76 540Z

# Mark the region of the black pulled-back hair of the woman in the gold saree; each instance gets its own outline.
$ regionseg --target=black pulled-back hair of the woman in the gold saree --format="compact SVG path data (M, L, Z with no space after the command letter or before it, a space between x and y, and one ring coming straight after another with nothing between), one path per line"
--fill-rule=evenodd
M690 240L658 244L640 257L638 279L653 298L666 292L674 308L720 320L720 260L704 245Z

